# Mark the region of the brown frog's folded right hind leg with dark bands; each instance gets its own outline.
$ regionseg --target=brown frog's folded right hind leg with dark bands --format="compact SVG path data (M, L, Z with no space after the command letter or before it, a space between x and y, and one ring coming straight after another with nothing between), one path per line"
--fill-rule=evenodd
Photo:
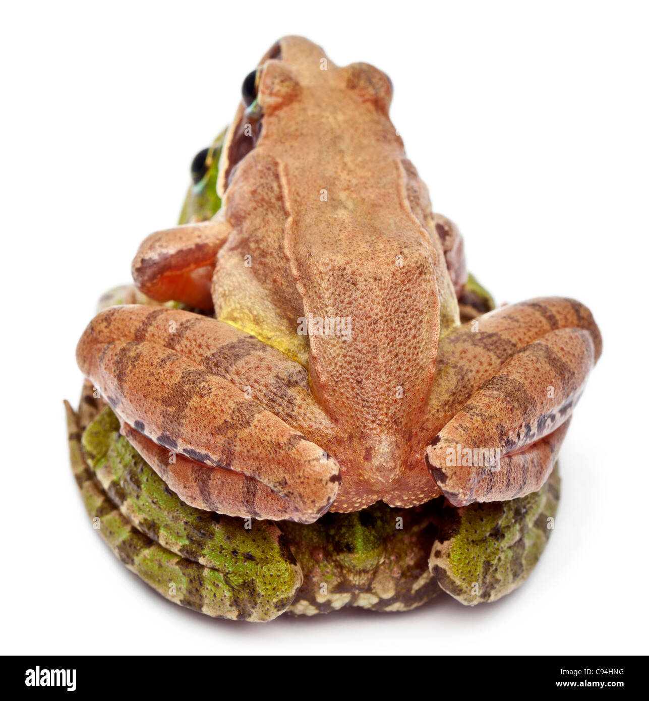
M471 396L454 393L437 407L446 423L426 453L435 482L456 506L537 491L601 353L592 315L572 300L536 299L470 322L444 343L436 380L464 374Z

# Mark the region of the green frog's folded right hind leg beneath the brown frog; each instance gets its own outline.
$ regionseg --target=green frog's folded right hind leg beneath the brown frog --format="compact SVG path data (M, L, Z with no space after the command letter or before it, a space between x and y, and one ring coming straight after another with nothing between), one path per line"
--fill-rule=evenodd
M545 550L559 505L559 469L539 491L512 501L442 509L430 569L463 604L496 601L521 585Z

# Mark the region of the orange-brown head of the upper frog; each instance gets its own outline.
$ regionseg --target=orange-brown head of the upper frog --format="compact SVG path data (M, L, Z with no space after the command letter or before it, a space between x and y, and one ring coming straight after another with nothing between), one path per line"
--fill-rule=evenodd
M362 103L378 109L389 123L391 102L392 81L378 68L368 63L339 67L312 41L302 36L285 36L268 49L258 67L243 79L241 102L226 134L219 163L219 196L224 195L235 165L261 138L262 123L267 130L268 118L280 119L284 128L303 127L308 118L308 136L313 138L320 120L327 124L338 118L349 128L355 121L355 113L362 128L367 129L367 121L358 109ZM301 111L302 120L295 118L294 110ZM285 111L283 117L282 111ZM400 141L395 131L390 131L395 142ZM301 134L306 136L303 130ZM291 135L293 147L298 136L299 133Z

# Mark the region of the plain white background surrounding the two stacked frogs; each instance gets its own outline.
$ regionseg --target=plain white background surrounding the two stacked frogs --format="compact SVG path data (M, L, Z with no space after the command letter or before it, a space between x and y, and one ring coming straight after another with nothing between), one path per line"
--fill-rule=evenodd
M0 19L2 651L647 653L648 15L641 3L6 3ZM604 353L568 438L556 530L496 604L266 625L174 606L93 531L62 399L79 334L175 223L193 155L283 34L395 86L435 210L498 302L577 297Z

